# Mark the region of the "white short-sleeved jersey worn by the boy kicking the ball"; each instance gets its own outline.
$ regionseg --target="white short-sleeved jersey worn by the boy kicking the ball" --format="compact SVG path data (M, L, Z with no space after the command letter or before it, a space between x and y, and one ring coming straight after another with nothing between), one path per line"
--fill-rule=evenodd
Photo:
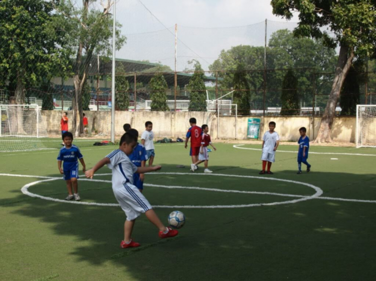
M129 157L120 149L112 151L106 156L110 159L107 166L112 169L112 188L124 188L123 184L129 182L133 184L133 173L137 167Z

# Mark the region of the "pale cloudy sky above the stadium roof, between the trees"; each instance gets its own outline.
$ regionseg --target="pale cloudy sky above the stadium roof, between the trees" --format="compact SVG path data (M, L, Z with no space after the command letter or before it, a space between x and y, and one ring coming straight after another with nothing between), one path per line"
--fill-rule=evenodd
M296 26L273 15L270 0L118 0L116 19L127 42L116 57L174 69L176 23L177 70L189 68L192 59L207 70L222 50L239 44L263 46L266 18L277 21L268 23L268 38L277 29Z

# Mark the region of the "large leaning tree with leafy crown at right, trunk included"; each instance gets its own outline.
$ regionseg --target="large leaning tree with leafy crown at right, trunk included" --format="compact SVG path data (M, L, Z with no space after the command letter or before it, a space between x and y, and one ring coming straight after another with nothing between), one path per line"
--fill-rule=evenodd
M326 45L340 45L331 91L321 119L316 142L331 142L335 107L343 82L355 56L372 55L376 43L374 0L272 0L273 13L291 19L299 12L294 34L323 38ZM329 27L324 29L321 27ZM333 34L329 36L329 32Z

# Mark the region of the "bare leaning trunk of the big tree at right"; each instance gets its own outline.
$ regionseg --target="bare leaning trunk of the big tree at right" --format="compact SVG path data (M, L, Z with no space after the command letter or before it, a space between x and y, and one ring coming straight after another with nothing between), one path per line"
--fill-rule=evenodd
M320 128L317 132L315 143L331 142L331 128L334 121L335 107L338 103L339 94L342 89L343 82L346 78L348 70L351 67L352 59L354 58L354 50L348 46L341 45L337 65L335 68L335 75L328 102L326 103L324 115L322 116Z

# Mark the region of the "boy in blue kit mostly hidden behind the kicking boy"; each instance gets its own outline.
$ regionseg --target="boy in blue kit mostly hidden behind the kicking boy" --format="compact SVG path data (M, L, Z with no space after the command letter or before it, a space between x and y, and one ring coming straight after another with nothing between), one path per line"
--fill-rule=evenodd
M131 134L136 140L138 139L138 131L136 129L129 128L126 132ZM145 146L137 142L132 154L129 155L129 159L136 167L145 167L148 159ZM135 185L141 191L141 193L143 190L144 176L144 173L135 172L133 174L133 185Z

